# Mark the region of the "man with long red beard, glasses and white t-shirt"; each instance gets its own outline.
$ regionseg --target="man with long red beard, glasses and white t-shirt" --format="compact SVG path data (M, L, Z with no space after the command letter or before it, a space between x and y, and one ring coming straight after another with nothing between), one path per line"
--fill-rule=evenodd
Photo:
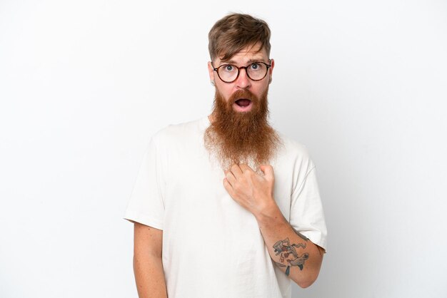
M152 136L125 218L139 297L291 297L326 247L315 166L268 124L274 61L264 21L209 32L211 115Z

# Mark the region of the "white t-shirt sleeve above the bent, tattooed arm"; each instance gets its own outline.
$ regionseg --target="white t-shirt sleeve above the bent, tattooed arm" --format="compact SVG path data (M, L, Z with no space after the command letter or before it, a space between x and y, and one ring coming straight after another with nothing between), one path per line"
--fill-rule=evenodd
M291 200L291 226L326 250L326 220L318 191L315 166L308 170L301 185L293 190Z

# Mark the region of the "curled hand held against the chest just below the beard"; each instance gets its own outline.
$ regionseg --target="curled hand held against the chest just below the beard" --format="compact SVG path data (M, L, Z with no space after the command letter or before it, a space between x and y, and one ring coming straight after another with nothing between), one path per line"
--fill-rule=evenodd
M259 168L263 175L258 175L246 164L233 164L225 171L224 178L224 187L228 194L255 216L275 203L273 167L261 165Z

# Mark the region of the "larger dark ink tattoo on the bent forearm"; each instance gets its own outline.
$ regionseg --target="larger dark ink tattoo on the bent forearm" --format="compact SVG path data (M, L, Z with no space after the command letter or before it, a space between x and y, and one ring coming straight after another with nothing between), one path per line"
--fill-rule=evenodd
M304 236L302 236L302 237L304 237ZM307 241L307 238L306 238L306 241ZM307 252L303 253L303 255L298 255L295 247L296 248L299 248L299 247L306 248L306 243L298 243L297 245L293 243L291 245L289 243L288 238L286 238L285 240L279 240L278 242L276 242L273 245L276 255L280 255L279 260L281 261L281 263L284 263L284 261L286 261L286 263L287 263L287 265L286 265L286 264L281 264L281 263L275 262L279 267L287 267L286 275L290 274L291 266L296 266L300 270L302 270L304 262L306 260L308 260L308 258L309 258L309 254ZM293 257L288 258L289 255L292 255Z

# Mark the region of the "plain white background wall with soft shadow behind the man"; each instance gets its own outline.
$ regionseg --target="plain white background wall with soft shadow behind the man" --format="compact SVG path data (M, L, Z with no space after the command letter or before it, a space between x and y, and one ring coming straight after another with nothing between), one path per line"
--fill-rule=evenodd
M121 217L152 133L208 115L207 34L268 21L271 122L329 231L293 297L447 297L446 1L0 0L0 297L136 297Z

